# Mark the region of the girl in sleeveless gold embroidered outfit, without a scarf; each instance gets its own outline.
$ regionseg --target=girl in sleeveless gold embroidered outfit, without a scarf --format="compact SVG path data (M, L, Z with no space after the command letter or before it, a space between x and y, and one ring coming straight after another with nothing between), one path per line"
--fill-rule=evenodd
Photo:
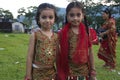
M36 14L39 30L30 37L25 80L54 80L58 36L52 26L57 19L52 4L42 3Z

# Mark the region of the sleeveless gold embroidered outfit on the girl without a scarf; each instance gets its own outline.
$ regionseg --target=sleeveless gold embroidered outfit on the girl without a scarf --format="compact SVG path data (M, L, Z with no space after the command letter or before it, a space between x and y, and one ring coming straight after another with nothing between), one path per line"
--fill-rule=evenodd
M36 38L33 80L54 80L58 36L53 33L52 37L48 38L41 31L38 31L36 32Z

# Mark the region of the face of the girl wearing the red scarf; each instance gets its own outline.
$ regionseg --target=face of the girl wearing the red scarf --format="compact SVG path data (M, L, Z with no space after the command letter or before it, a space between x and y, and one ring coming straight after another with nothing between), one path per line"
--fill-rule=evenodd
M72 26L79 26L83 19L83 12L80 8L74 7L67 14L67 20Z

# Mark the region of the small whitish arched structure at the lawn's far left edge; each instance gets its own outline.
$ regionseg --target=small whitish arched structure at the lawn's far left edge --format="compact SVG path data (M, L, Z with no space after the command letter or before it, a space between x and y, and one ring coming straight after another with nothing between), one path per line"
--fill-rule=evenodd
M19 22L14 22L12 23L12 31L16 33L24 33L24 27L23 24Z

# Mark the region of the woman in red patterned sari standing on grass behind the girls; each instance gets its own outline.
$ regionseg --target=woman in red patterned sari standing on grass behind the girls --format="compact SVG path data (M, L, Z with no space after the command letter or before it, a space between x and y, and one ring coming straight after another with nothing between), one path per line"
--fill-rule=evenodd
M111 17L111 11L109 9L103 11L102 17L105 22L99 34L102 39L98 51L98 58L105 62L104 67L115 69L117 42L115 19Z

